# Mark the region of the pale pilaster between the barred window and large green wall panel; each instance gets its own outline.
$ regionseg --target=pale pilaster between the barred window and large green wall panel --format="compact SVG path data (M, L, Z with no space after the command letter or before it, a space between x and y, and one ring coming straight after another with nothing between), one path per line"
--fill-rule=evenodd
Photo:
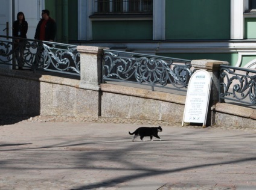
M153 0L153 40L165 40L165 0Z

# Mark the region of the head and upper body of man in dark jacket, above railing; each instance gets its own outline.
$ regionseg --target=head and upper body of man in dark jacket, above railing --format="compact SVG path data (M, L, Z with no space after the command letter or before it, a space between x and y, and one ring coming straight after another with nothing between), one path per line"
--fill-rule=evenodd
M54 41L56 31L56 22L50 17L50 11L42 10L42 19L37 24L34 38L42 41Z

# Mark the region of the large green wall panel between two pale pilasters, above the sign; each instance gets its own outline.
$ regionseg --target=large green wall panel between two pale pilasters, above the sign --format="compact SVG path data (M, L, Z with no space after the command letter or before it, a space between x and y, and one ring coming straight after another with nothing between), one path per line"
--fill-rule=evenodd
M230 1L166 0L167 40L230 38Z

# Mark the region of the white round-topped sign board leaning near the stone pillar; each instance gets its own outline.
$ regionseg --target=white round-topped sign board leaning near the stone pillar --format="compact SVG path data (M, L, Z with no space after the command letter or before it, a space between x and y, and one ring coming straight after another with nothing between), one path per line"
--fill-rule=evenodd
M211 76L206 70L197 70L190 78L185 102L184 123L206 124L211 91Z

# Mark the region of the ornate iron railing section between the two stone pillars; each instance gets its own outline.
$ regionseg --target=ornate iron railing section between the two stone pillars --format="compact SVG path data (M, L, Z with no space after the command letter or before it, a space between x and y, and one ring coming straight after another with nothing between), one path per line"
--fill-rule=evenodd
M103 82L118 81L187 91L190 60L104 50Z

